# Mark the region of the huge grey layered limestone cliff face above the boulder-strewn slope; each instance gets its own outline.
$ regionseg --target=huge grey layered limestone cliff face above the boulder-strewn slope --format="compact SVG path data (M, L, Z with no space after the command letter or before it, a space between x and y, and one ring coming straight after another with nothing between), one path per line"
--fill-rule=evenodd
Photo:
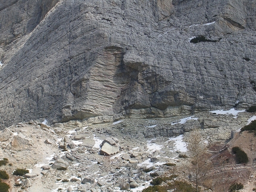
M253 105L255 10L252 0L1 0L0 122Z

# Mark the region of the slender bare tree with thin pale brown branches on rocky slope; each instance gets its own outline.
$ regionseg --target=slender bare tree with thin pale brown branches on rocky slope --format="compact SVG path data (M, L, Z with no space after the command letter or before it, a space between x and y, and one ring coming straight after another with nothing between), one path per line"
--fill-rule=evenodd
M195 182L196 191L199 191L199 185L205 180L211 168L210 155L207 153L207 146L199 130L191 131L185 142L191 158L190 177Z

